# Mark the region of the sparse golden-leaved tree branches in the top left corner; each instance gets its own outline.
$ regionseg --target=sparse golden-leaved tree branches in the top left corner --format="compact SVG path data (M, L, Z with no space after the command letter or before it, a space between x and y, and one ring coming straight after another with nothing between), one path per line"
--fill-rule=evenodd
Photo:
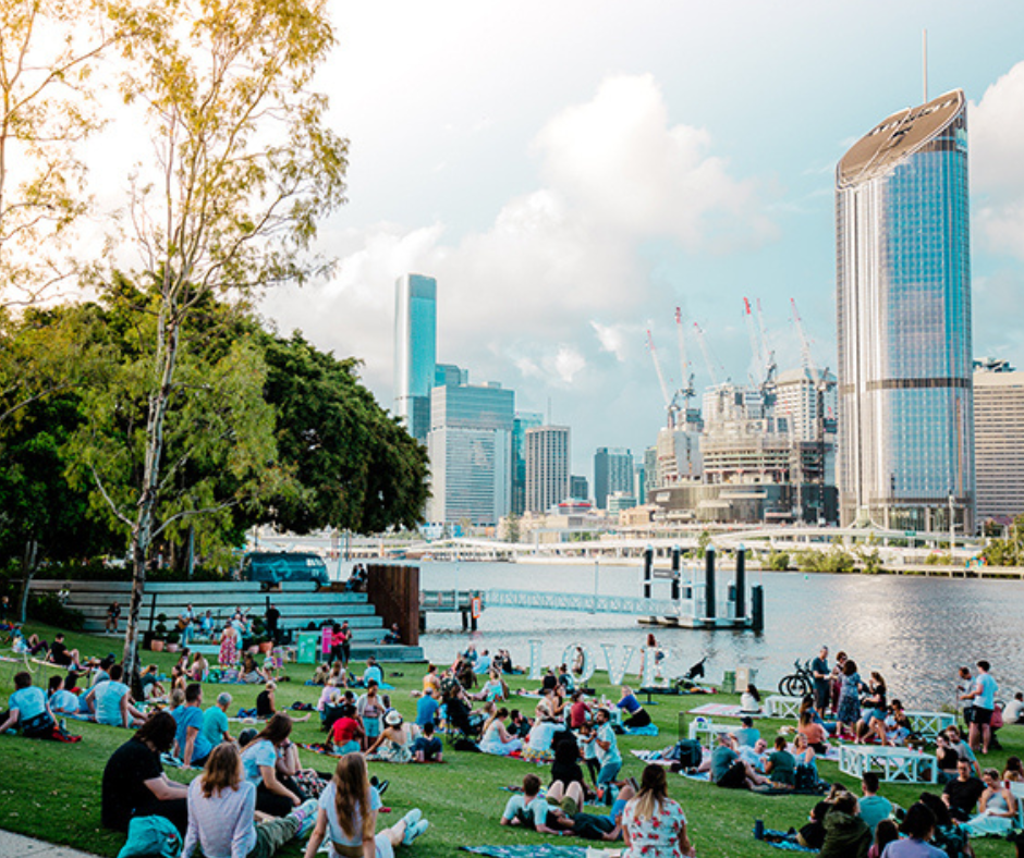
M94 0L0 0L0 303L73 273L88 209L76 146L99 127L93 74L120 28Z

